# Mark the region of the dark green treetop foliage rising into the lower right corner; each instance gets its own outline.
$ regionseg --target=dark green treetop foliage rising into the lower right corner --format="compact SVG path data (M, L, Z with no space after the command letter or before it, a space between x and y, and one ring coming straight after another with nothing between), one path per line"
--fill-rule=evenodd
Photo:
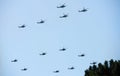
M105 61L104 64L90 66L84 76L120 76L120 60Z

